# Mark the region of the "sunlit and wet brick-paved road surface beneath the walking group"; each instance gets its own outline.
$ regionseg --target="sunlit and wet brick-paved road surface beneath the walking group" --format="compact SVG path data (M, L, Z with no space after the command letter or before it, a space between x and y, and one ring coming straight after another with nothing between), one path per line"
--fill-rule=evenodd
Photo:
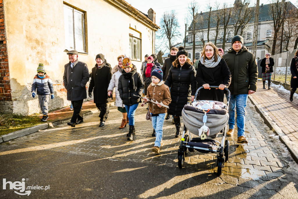
M128 126L119 129L122 114L117 107L109 108L110 114L105 126L98 127L98 114L91 114L84 118L84 123L72 128L66 124L31 134L10 141L10 144L21 146L25 151L53 150L73 154L90 155L103 159L130 160L147 162L156 165L177 167L177 150L181 138L175 138L175 126L171 120L164 122L163 143L160 154L151 152L155 138L151 137L152 124L145 120L146 108L139 106L136 110L136 131L134 141L128 141L126 134ZM280 156L281 151L276 143L268 140L269 128L262 123L262 119L256 113L249 102L246 118L246 137L248 144L237 143L237 132L230 140L229 162L223 168L223 174L245 179L278 179L287 181L284 171L287 162L293 160L289 156L284 160ZM259 117L260 119L256 120ZM269 132L269 133L268 133ZM216 140L220 140L218 135ZM2 152L9 154L13 151ZM284 151L282 151L284 152ZM188 169L203 169L206 172L216 173L216 155L201 154L197 151L186 156L184 167Z

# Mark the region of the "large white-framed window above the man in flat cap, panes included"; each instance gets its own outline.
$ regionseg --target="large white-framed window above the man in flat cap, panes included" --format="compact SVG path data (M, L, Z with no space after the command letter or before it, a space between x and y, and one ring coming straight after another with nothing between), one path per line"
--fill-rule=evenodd
M85 13L65 4L63 4L63 10L66 49L86 52Z

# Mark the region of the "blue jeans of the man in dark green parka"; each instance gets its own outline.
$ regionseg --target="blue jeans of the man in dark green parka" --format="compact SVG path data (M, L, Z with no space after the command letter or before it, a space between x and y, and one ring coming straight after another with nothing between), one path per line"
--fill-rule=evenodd
M245 107L248 94L231 95L229 103L229 129L235 128L235 105L237 113L238 137L245 134Z

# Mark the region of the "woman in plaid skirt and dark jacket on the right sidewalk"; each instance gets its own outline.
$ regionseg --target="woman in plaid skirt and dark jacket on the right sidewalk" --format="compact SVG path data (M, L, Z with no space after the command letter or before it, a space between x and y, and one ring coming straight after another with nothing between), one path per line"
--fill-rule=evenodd
M263 89L265 88L266 80L268 80L268 89L270 88L271 75L273 73L274 60L270 57L270 53L266 53L265 58L262 59L260 66L262 67Z

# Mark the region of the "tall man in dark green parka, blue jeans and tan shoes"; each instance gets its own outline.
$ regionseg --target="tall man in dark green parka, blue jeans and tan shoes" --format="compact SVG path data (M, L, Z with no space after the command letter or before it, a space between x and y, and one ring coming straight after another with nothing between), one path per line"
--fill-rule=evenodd
M254 54L243 46L243 37L236 35L232 39L232 48L223 55L230 72L232 81L229 86L231 99L229 104L228 136L234 134L235 107L237 113L238 142L247 143L245 135L245 107L249 94L257 90L257 62Z

